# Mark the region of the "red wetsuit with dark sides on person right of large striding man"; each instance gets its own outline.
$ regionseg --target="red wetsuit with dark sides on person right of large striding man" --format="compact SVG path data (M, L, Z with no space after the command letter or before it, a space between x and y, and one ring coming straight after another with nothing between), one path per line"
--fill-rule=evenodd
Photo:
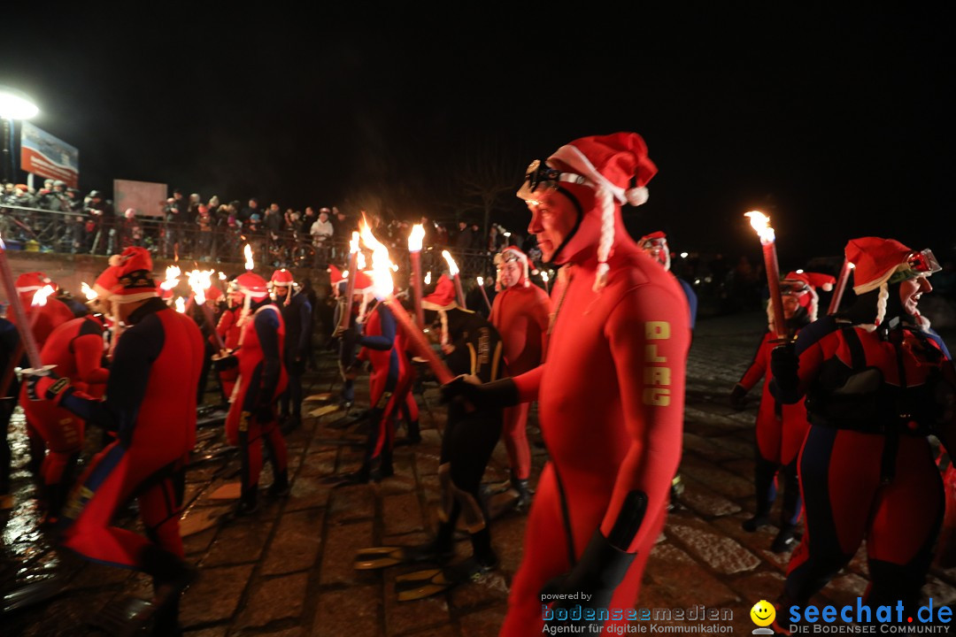
M226 439L240 448L243 499L254 505L262 471L262 445L276 480L285 480L286 443L279 430L275 401L286 390L288 376L282 364L286 329L282 311L266 302L250 314L242 326L241 344L236 351L239 378L226 417Z

